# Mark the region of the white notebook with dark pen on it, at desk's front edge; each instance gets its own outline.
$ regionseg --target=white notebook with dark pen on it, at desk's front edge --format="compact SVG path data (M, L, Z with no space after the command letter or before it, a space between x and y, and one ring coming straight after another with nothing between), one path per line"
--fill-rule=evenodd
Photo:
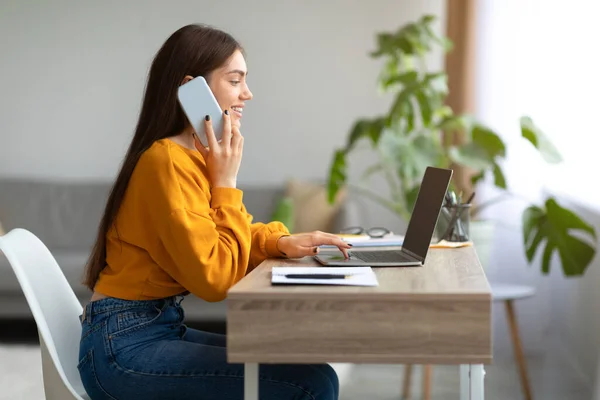
M271 283L273 285L379 285L371 267L273 267Z

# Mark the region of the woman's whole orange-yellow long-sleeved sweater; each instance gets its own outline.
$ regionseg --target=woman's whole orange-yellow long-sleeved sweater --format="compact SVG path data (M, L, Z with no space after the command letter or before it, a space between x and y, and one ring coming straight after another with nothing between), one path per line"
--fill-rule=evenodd
M207 176L198 151L169 139L141 156L107 234L96 291L128 300L189 291L220 301L267 257L283 255L277 240L286 227L252 223L242 191L211 188Z

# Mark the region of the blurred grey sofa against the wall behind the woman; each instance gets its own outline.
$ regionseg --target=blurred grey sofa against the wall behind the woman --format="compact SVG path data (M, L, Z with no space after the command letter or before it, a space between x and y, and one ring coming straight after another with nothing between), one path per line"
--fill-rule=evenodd
M283 187L242 187L244 204L255 221L269 221ZM50 249L82 304L90 291L82 284L84 264L93 244L110 184L0 179L0 222L6 232L25 228ZM344 204L335 229L356 223ZM225 302L207 303L188 296L182 303L188 320L222 321ZM21 288L0 253L0 318L30 318Z

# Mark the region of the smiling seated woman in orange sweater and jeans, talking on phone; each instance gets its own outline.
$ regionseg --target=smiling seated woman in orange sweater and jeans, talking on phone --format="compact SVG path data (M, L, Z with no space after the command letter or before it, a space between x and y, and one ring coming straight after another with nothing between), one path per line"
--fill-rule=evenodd
M334 235L252 223L236 188L247 75L239 43L209 27L179 29L156 54L86 270L94 293L81 316L78 368L94 400L242 399L243 365L227 363L223 335L183 324L184 295L223 300L267 257L303 257L322 244L347 256ZM197 76L224 110L219 142L207 118L207 148L176 97ZM338 398L326 364L261 365L259 388L261 399Z

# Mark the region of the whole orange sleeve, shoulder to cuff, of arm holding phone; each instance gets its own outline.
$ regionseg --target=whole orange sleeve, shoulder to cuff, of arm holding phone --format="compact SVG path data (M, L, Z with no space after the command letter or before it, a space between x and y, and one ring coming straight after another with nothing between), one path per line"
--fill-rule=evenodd
M225 299L246 275L250 258L242 191L211 190L195 171L176 164L152 172L145 197L147 215L157 227L156 255L162 258L157 263L190 293L211 302Z

